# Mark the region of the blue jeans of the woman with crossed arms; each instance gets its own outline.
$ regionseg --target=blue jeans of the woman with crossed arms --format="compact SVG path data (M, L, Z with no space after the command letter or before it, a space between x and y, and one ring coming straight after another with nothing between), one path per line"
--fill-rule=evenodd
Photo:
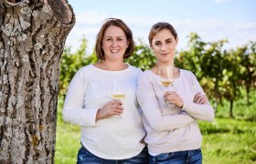
M149 155L150 164L201 164L202 159L201 149L163 153L157 156Z

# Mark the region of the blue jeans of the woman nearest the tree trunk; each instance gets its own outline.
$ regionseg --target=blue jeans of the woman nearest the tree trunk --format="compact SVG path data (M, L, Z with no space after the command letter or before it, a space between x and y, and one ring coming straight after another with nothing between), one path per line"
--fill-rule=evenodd
M140 154L131 159L101 159L82 146L79 150L77 164L148 164L148 151L145 147Z

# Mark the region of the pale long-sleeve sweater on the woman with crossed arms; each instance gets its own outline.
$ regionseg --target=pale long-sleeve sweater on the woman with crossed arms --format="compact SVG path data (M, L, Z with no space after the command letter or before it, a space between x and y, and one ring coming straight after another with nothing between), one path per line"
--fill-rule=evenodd
M201 147L201 133L197 119L211 121L214 110L211 105L198 105L193 98L198 92L204 94L197 77L180 69L180 77L175 78L174 89L183 98L184 106L165 107L166 88L159 84L159 77L150 70L144 71L138 79L137 98L143 110L143 122L147 135L149 153L153 156Z

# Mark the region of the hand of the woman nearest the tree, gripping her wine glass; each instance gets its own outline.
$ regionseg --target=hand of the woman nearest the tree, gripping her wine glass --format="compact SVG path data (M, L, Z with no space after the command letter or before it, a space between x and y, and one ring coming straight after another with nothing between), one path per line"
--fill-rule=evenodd
M123 114L123 103L120 100L114 99L106 103L102 108L97 111L96 121L102 118L109 118L113 115L120 116Z

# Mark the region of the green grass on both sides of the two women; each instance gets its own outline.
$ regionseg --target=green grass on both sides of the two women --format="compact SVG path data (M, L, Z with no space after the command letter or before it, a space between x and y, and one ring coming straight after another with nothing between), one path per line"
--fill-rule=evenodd
M224 101L213 122L199 121L204 164L256 164L255 92L250 106L244 102L242 98L235 103L235 119L229 118L229 103ZM55 163L74 164L80 149L80 127L64 123L61 110L58 116Z

